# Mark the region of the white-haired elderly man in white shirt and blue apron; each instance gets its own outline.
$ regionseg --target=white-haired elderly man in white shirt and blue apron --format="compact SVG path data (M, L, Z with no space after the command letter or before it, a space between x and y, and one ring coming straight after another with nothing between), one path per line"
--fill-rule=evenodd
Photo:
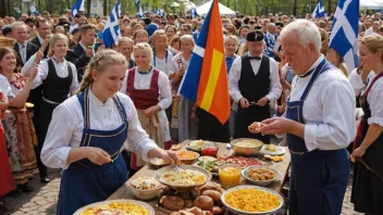
M355 93L342 72L320 54L314 23L297 20L280 35L296 77L285 117L269 118L263 135L287 134L292 155L289 213L341 214L348 182L345 148L356 135Z

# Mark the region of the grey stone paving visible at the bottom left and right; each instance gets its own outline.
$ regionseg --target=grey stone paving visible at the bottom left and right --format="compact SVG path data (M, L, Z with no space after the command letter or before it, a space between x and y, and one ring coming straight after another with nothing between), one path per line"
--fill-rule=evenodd
M3 200L7 204L12 205L15 210L7 215L17 214L39 214L39 215L54 215L57 208L58 193L60 189L60 172L50 169L49 176L51 181L47 185L40 184L38 175L30 180L30 186L35 190L30 193L23 193L18 198L5 197ZM350 177L351 178L351 177ZM347 188L345 201L343 203L342 215L361 214L355 212L354 205L350 203L350 184ZM282 213L277 213L282 214Z

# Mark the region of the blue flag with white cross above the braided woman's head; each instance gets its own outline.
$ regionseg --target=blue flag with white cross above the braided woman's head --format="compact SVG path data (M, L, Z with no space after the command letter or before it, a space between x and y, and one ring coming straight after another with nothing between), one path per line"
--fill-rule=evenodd
M112 13L103 30L103 43L106 47L111 48L119 41L120 27L119 27L119 16L121 15L121 4L120 0L115 2Z

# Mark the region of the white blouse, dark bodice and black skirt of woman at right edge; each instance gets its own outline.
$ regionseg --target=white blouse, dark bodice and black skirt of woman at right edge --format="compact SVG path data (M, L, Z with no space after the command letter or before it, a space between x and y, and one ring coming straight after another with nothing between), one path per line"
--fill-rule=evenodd
M353 77L354 76L354 77ZM358 74L351 74L350 81L360 94L360 105L365 112L358 127L358 135L354 143L354 150L358 148L367 136L371 124L383 127L383 72L370 74L368 84L363 86ZM366 150L361 160L357 160L354 166L354 180L351 202L355 211L368 214L383 214L383 132Z

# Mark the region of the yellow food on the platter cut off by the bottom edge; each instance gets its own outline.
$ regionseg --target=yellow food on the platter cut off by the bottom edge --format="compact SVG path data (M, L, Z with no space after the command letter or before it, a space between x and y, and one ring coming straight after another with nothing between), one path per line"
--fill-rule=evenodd
M81 215L148 215L149 211L143 206L132 203L110 203L100 206L86 208Z

